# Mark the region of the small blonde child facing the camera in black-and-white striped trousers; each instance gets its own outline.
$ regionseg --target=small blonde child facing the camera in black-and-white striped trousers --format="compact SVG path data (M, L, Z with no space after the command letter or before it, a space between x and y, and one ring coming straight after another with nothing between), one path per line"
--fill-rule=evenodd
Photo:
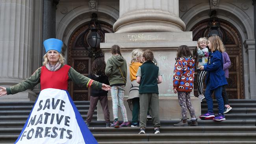
M206 47L208 44L208 40L206 37L201 37L197 40L197 50L196 50L196 55L197 55L197 91L198 91L198 99L202 102L202 99L204 99L204 94L203 94L203 79L204 76L206 75L205 70L200 70L200 66L207 65L208 61L208 48ZM198 47L199 46L199 47Z

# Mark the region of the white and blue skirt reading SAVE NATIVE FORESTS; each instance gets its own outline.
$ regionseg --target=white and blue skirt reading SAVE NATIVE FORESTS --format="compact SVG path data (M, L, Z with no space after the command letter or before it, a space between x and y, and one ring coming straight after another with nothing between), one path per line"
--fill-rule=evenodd
M15 144L97 144L69 92L44 89Z

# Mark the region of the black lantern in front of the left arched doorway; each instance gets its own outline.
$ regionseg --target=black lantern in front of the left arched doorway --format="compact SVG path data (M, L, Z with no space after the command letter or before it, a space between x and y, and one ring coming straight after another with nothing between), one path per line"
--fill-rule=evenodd
M100 42L101 42L101 36L99 34L101 30L100 22L98 21L98 16L96 13L93 13L91 16L91 21L89 22L88 29L85 30L83 34L83 45L86 48L87 51L89 51L89 57L96 59L100 56ZM89 34L87 33L89 31ZM86 35L87 34L87 35ZM87 43L89 44L90 48L85 46L85 42L87 40Z

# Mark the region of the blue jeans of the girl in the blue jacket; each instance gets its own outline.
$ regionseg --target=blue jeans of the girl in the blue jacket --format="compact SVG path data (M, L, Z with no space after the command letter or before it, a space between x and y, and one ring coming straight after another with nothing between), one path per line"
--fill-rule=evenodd
M205 99L207 102L208 111L210 111L211 113L213 113L213 100L211 97L213 91L214 91L215 98L218 102L219 113L223 114L223 112L224 112L224 102L223 102L223 98L221 96L221 90L222 90L222 86L217 87L216 89L213 89L213 90L210 90L209 84L207 84L207 86L206 86L204 96L205 96Z

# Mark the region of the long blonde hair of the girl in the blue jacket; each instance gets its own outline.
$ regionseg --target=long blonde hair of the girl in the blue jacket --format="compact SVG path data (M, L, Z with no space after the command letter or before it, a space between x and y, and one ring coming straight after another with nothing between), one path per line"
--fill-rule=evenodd
M211 42L211 51L214 52L216 50L218 50L219 52L224 52L225 51L225 47L223 42L221 41L221 38L217 35L212 35L210 37L208 37L208 41Z

